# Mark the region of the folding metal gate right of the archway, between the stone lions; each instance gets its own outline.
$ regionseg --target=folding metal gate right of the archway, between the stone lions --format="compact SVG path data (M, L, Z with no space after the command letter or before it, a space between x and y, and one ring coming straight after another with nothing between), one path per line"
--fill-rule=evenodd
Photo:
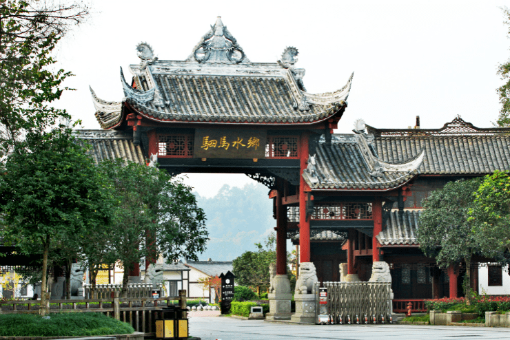
M316 283L317 323L391 323L391 283L324 282L327 296L320 304Z

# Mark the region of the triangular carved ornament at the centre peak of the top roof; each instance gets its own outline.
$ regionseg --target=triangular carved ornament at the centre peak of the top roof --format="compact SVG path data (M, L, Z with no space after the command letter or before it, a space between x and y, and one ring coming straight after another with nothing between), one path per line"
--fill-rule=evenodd
M198 42L187 61L193 59L198 63L249 63L243 48L223 25L221 17Z

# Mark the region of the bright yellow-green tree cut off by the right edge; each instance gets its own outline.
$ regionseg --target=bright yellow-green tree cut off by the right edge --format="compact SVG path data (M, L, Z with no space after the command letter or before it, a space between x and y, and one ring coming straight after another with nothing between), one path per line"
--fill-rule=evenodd
M485 254L504 261L502 253L510 251L509 173L495 171L485 176L475 197L475 205L469 211L473 233L478 235Z

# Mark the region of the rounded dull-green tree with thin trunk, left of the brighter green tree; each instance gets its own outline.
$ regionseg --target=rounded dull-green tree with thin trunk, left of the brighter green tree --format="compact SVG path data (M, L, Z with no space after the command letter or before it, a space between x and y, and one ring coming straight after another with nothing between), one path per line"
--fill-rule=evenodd
M449 182L425 200L420 215L418 242L425 255L436 257L442 268L462 260L466 263L465 292L471 289L471 257L480 253L480 237L471 231L469 209L481 178Z

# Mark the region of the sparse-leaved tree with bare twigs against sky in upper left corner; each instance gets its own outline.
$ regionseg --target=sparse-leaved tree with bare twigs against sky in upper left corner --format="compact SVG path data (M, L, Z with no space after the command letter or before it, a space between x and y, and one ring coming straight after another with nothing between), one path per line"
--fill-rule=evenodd
M30 131L42 131L67 112L48 107L60 98L64 70L52 70L52 51L71 25L88 14L82 3L0 1L0 156Z

